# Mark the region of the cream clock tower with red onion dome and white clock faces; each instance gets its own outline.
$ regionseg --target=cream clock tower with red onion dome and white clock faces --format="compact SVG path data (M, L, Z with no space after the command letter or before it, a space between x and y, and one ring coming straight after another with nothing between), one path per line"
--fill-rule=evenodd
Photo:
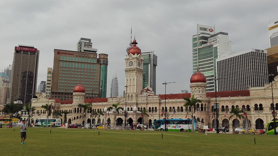
M132 47L128 49L128 55L125 60L125 84L126 96L128 100L133 100L133 97L140 95L142 92L143 79L143 58L141 49L136 46L137 42L134 38Z

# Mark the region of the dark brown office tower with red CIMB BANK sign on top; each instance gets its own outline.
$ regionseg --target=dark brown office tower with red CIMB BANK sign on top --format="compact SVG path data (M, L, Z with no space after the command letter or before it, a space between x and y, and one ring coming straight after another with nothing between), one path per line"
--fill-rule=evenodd
M10 102L21 99L29 103L36 92L40 51L34 46L15 47L11 78Z

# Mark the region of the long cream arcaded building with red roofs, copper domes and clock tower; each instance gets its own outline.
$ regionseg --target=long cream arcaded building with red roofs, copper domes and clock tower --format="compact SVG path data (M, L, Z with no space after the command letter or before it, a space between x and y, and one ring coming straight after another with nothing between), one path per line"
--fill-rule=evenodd
M92 117L92 124L103 123L111 125L121 125L124 123L124 110L119 115L115 116L115 110L110 112L107 111L108 107L112 104L120 102L119 107L125 109L125 99L127 106L127 124L137 124L142 122L142 116L140 110L146 108L149 117L144 115L144 123L151 125L153 121L163 119L161 113L165 110L165 95L154 95L154 92L150 87L142 88L142 74L143 59L141 56L141 50L136 46L136 40L133 40L133 46L129 48L128 55L125 57L125 79L126 79L126 96L119 96L115 98L98 98L98 99L85 99L85 90L82 84L78 84L73 90L73 100L60 101L58 99L47 99L45 95L41 94L38 99L32 99L32 106L36 108L32 114L32 123L38 118L46 117L46 110L41 108L44 104L52 103L55 109L67 111L67 123L90 123L90 112L86 111L86 119L82 116L84 110L78 108L78 104L91 103L93 111L102 111L103 116L100 118ZM193 114L200 123L199 125L208 125L209 128L213 127L213 104L216 101L219 103L219 126L225 126L229 129L235 127L245 127L244 119L236 119L232 117L229 120L231 114L224 117L225 112L230 112L233 108L239 107L240 110L245 110L251 127L255 129L263 129L263 125L273 120L272 110L278 108L278 77L273 82L273 97L274 103L272 103L272 87L270 84L265 84L264 87L249 88L249 90L243 91L221 91L221 92L206 92L206 78L204 74L197 71L192 74L190 78L191 93L184 94L168 94L166 95L166 111L171 118L182 118L184 119L188 108L183 105L185 101L183 97L190 98L191 95L195 95L197 99L200 99L202 103L197 103L196 112ZM91 89L91 88L90 88ZM275 108L273 106L276 106ZM153 116L151 116L154 112ZM171 115L176 112L173 117ZM38 116L39 114L41 116ZM23 118L27 118L27 113L22 113ZM54 118L60 118L60 116L54 116ZM64 116L61 117L64 123ZM238 120L236 122L236 120ZM276 119L277 120L277 119Z

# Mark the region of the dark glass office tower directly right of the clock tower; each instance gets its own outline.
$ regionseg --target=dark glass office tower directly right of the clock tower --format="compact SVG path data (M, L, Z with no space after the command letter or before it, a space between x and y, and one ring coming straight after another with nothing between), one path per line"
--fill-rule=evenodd
M143 88L149 86L156 93L157 55L154 52L141 53L143 61Z

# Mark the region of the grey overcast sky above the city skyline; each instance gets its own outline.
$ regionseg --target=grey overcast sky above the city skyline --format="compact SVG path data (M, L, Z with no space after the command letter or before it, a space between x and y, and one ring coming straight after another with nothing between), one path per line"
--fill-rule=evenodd
M278 21L277 0L196 1L0 1L1 68L12 64L14 47L40 50L37 85L53 67L53 49L76 50L90 38L98 53L108 54L107 97L117 73L123 95L125 55L130 27L142 52L158 56L156 94L190 90L192 36L197 24L228 32L232 51L269 48L268 23ZM90 89L91 90L91 89Z

